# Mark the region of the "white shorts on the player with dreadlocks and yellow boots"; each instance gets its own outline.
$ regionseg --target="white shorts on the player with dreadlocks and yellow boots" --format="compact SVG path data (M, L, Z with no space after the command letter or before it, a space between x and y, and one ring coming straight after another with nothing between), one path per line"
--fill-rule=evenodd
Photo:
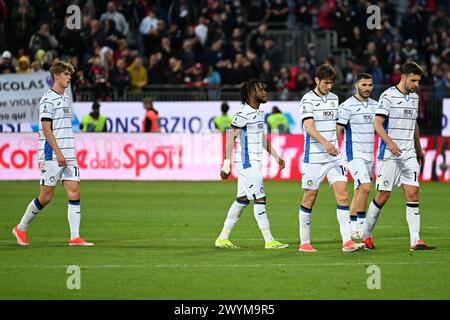
M248 200L256 200L266 196L261 168L250 167L236 171L238 174L238 198L246 196Z

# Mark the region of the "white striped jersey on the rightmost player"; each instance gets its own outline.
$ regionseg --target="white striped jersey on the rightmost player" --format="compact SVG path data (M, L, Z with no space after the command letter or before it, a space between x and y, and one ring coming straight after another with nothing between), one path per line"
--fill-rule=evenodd
M403 94L396 86L385 90L378 101L377 115L383 115L386 120L383 127L387 134L400 148L400 157L394 156L380 139L378 149L379 160L407 160L416 157L414 148L414 130L419 112L419 96L416 93Z

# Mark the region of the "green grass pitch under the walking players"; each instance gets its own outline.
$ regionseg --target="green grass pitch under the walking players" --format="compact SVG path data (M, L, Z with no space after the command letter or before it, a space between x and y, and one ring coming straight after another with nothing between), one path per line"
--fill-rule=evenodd
M350 185L351 187L351 185ZM266 181L272 233L291 246L264 250L250 205L232 233L237 250L214 249L235 181L82 182L81 235L95 247L68 247L67 206L58 187L33 221L31 246L11 229L38 183L0 183L0 299L449 299L450 184L421 186L422 238L411 252L401 190L374 233L373 251L343 253L333 196L323 184L313 211L316 254L298 249L298 182ZM372 196L371 196L372 198ZM69 290L67 266L81 268ZM370 290L377 265L381 289Z

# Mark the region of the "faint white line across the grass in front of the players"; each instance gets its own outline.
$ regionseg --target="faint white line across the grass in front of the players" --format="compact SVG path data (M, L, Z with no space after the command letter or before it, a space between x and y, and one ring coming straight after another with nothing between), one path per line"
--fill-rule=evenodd
M280 268L280 267L347 267L347 266L367 266L367 265L423 265L423 264L448 264L449 261L424 261L424 262L334 262L334 263L309 263L309 264L300 264L300 263L276 263L276 264L153 264L153 265L98 265L98 266L83 266L80 265L80 268L85 269L201 269L201 268ZM66 269L69 265L60 265L60 266L0 266L0 269Z

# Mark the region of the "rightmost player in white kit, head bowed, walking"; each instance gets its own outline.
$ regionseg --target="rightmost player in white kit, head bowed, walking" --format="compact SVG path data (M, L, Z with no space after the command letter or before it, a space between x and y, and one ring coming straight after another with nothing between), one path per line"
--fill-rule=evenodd
M372 231L380 210L392 189L401 186L406 201L410 249L431 250L434 247L427 246L419 235L419 174L425 155L416 121L419 110L416 91L423 70L415 62L406 62L401 67L401 74L400 83L381 94L376 109L374 128L382 139L377 157L377 193L367 211L363 242L367 248L375 248Z

